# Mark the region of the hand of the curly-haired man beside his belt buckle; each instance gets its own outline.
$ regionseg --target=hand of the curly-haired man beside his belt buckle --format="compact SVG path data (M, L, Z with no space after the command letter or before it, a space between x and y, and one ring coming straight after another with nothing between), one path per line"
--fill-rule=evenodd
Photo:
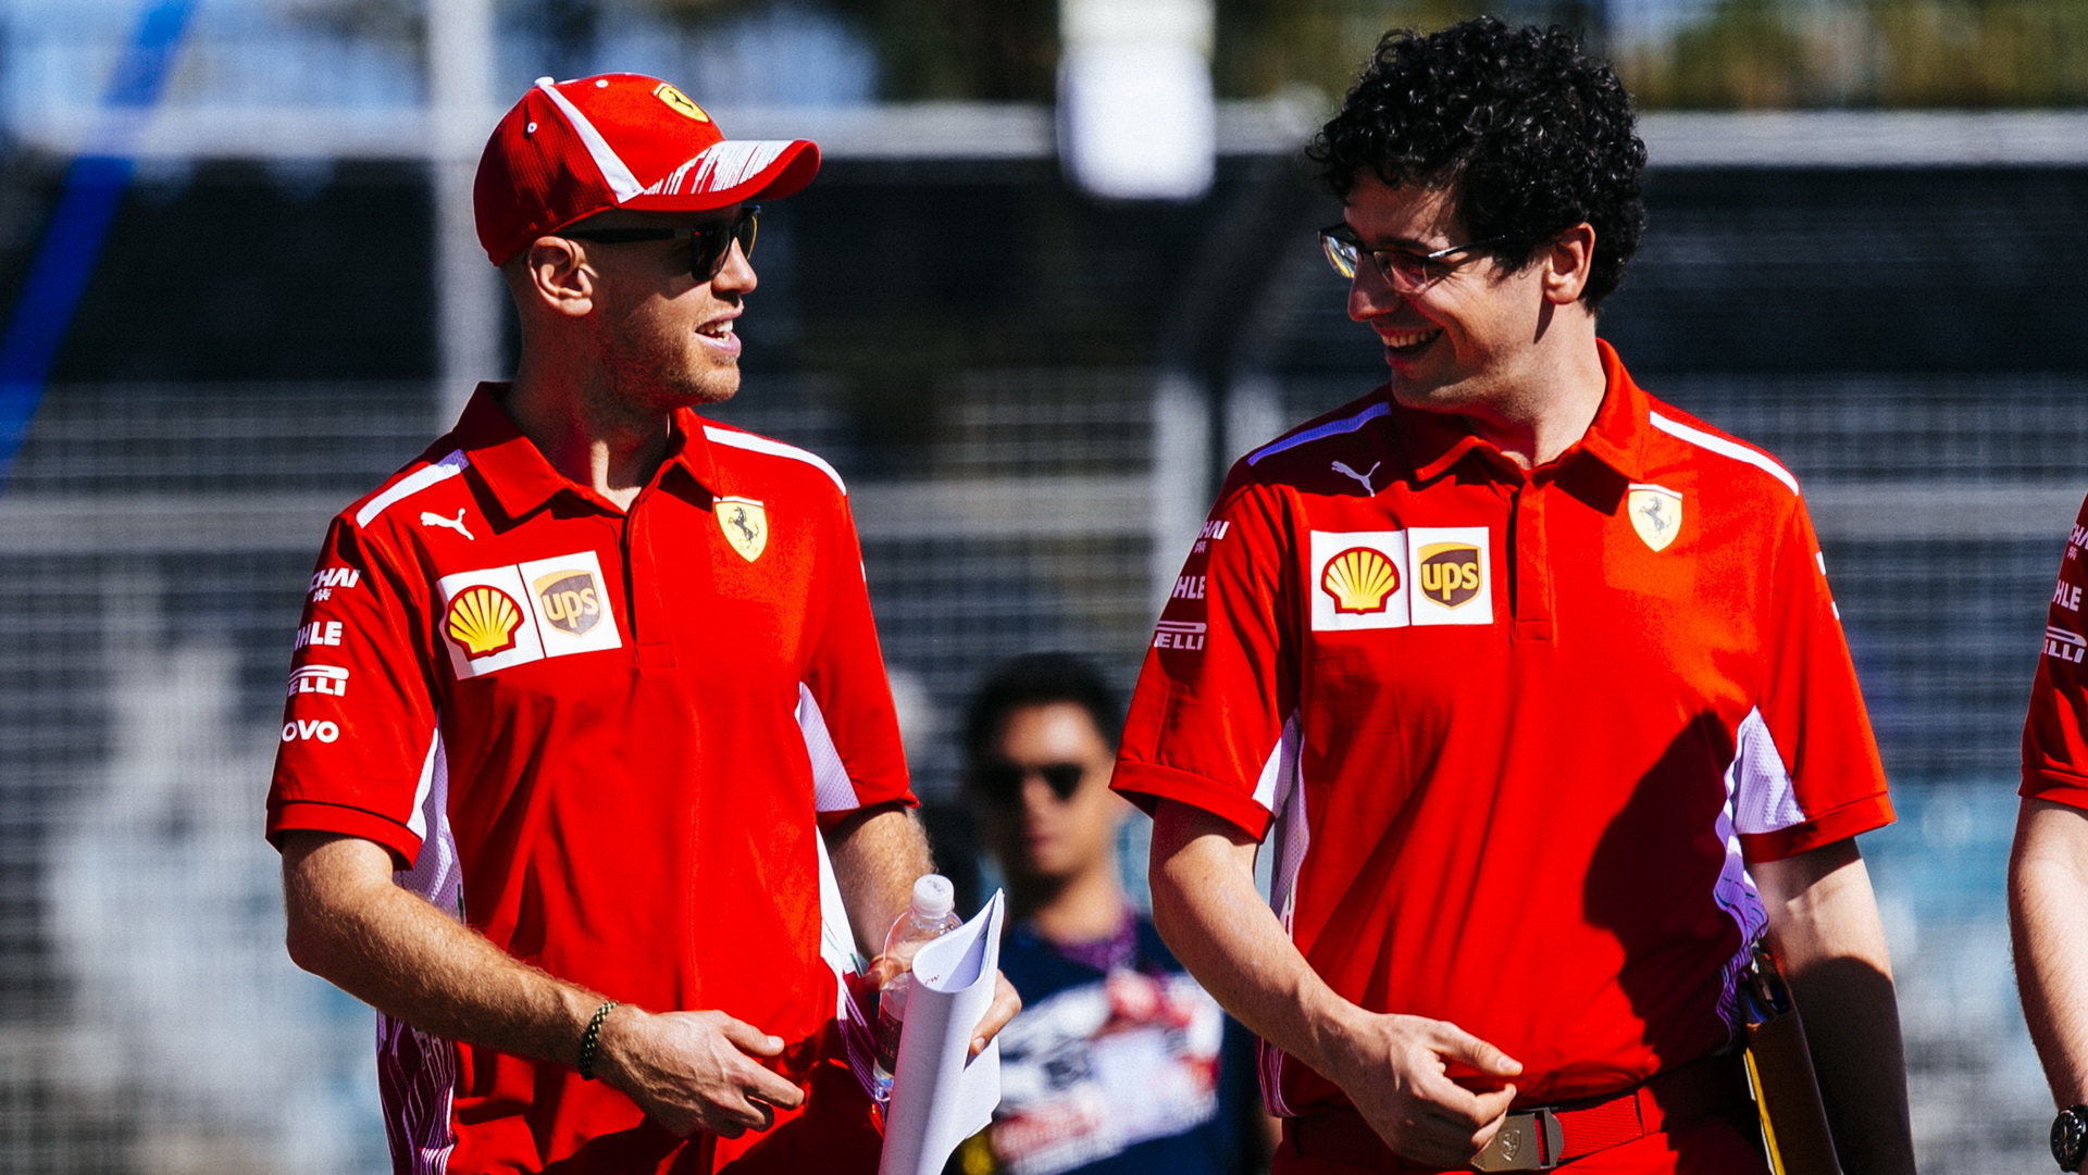
M1505 1085L1522 1062L1445 1021L1357 1012L1328 1041L1328 1077L1403 1158L1462 1169L1493 1142L1516 1100ZM1447 1077L1447 1062L1478 1071L1499 1089L1474 1094Z

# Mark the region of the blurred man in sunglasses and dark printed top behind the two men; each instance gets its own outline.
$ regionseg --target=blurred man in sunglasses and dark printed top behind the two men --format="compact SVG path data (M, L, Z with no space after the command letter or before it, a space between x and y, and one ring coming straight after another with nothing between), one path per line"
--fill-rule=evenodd
M1109 682L1065 653L1015 657L971 697L965 799L1006 881L1000 968L1025 1008L967 1175L1230 1175L1267 1152L1249 1037L1123 891L1121 726Z

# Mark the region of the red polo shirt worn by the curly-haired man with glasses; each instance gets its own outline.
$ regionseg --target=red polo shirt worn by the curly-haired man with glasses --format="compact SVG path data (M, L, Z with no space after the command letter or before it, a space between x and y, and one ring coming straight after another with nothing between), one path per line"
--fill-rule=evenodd
M1727 1044L1743 864L1892 818L1796 480L1601 363L1535 472L1389 388L1234 465L1115 774L1274 822L1307 962L1497 1044L1522 1104ZM1263 1081L1345 1104L1267 1050Z

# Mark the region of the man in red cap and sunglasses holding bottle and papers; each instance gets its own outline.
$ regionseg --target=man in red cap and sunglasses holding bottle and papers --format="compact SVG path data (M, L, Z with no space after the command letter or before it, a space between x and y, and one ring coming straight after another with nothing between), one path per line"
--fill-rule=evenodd
M487 142L520 365L334 520L267 806L292 958L380 1012L395 1171L875 1167L823 906L871 941L931 866L862 555L833 467L693 411L739 388L750 200L816 171L639 75Z

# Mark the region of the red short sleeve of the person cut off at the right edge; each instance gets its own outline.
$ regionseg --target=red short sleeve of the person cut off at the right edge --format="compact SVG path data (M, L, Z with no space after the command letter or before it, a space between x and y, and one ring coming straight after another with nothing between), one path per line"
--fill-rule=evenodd
M2030 685L2030 714L2023 720L2023 787L2032 799L2088 808L2088 624L2082 595L2088 591L2088 501L2067 534L2059 557L2059 582L2044 612L2044 643Z

